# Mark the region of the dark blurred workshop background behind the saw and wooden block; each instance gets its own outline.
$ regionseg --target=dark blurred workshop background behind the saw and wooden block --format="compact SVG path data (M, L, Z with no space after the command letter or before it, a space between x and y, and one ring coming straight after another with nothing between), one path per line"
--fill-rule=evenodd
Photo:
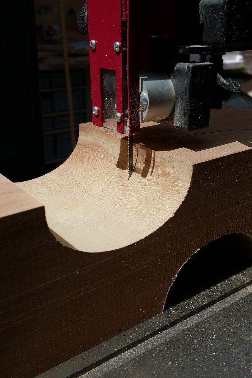
M88 37L78 30L82 6L82 0L2 5L0 172L12 181L62 164L77 142L79 124L91 121ZM252 52L227 53L224 68L243 89L226 105L252 110Z

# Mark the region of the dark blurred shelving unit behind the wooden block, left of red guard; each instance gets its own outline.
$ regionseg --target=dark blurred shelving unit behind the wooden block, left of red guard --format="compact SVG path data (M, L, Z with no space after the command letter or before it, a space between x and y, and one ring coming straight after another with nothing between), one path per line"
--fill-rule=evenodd
M70 70L76 142L79 124L91 121L89 67ZM40 71L46 171L59 166L72 152L65 72Z

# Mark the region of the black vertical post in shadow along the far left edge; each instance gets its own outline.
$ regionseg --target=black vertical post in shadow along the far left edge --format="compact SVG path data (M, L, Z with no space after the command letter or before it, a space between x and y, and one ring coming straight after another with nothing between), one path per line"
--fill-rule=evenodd
M44 173L34 2L2 8L0 172L12 181Z

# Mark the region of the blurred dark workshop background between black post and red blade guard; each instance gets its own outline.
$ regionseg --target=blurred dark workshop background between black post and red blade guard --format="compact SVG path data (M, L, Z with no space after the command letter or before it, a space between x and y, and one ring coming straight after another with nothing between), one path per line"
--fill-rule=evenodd
M79 124L92 119L89 43L88 37L78 30L83 0L63 0L62 3L34 1L46 171L54 169L70 155L77 142ZM72 109L66 85L62 10ZM73 117L74 133L70 130L70 117Z

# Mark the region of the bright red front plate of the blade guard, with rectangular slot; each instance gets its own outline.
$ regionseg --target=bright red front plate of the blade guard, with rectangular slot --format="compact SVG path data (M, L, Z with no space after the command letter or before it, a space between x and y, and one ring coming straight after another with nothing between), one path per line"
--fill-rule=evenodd
M117 131L124 134L124 67L122 40L122 3L121 0L88 0L88 37L96 42L96 48L90 48L90 77L92 108L99 110L93 116L93 124L102 126L103 116L103 80L102 70L116 71L116 111L122 119L117 122ZM114 51L114 42L121 44L121 50Z

